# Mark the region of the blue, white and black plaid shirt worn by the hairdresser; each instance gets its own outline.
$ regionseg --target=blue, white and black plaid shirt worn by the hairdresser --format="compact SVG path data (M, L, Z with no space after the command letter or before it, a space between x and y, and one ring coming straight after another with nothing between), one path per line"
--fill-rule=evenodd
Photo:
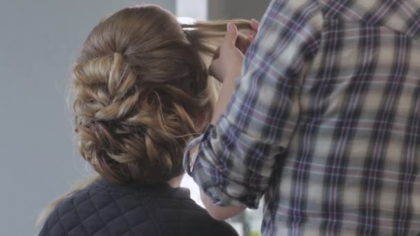
M191 175L263 235L420 234L420 0L274 0Z

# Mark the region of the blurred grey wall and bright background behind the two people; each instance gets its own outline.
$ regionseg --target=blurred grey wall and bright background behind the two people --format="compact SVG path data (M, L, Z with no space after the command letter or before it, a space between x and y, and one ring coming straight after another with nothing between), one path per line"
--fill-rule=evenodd
M34 235L41 209L89 175L66 106L70 67L100 19L139 3L178 17L260 19L269 0L0 0L0 235ZM182 185L200 204L193 181ZM247 210L229 223L255 236L260 218Z

